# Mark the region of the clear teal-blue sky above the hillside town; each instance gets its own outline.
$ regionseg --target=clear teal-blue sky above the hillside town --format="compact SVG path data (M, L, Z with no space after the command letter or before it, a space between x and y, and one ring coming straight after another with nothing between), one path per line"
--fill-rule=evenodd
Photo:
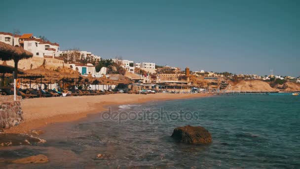
M3 0L0 18L103 58L300 76L300 0Z

